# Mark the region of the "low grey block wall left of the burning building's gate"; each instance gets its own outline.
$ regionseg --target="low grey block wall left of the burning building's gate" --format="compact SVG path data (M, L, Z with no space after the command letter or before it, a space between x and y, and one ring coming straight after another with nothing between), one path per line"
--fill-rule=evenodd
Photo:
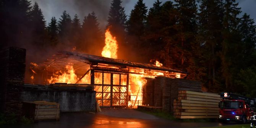
M61 90L24 90L23 101L57 102L61 112L94 112L96 107L95 91L61 91Z

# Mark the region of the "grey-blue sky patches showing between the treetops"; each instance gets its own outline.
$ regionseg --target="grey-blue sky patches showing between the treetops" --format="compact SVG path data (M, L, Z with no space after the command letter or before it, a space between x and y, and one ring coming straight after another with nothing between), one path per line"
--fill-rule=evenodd
M50 18L55 16L60 18L62 12L66 10L71 18L75 14L79 15L81 22L84 16L94 11L100 23L100 28L104 28L107 23L110 3L112 0L32 0L32 4L37 2L43 11L45 20L49 23ZM156 0L144 0L147 8L151 8ZM161 0L160 0L161 1ZM169 0L162 0L166 2ZM256 0L237 0L242 13L247 13L251 18L256 19ZM137 0L123 0L122 6L125 7L126 15L129 15Z

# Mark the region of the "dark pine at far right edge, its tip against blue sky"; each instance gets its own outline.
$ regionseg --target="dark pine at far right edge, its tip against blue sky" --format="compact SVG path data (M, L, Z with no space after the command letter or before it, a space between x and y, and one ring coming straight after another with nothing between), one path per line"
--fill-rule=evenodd
M240 51L242 57L239 59L242 62L241 66L237 67L238 73L232 78L234 81L235 91L249 97L256 96L256 26L254 20L246 13L242 16L238 30L241 34L243 50Z

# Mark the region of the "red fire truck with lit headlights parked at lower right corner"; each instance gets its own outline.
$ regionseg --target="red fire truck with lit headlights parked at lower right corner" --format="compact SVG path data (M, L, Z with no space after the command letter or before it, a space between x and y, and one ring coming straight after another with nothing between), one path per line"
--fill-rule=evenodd
M222 98L219 104L221 121L246 123L250 120L251 111L254 109L254 99L230 92L222 92L220 97Z

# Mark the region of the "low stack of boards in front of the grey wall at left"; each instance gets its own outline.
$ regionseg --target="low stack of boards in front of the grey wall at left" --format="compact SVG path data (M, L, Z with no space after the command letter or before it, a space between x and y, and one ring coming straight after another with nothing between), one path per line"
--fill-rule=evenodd
M60 104L55 102L23 102L23 115L32 120L59 120Z

